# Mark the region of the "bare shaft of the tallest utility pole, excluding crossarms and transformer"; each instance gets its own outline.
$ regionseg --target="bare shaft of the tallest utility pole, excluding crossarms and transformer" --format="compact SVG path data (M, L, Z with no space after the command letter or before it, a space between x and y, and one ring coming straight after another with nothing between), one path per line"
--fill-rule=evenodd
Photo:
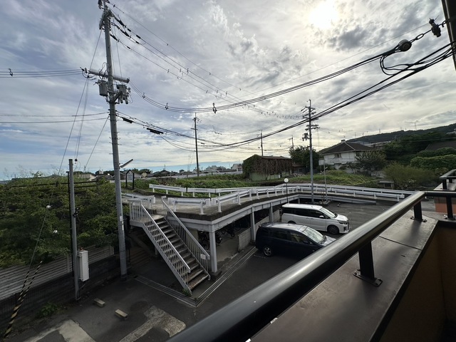
M123 207L122 207L122 190L120 185L120 162L119 162L119 145L117 132L117 118L115 116L115 101L117 92L114 89L113 78L113 59L111 57L110 43L110 17L111 11L103 0L103 26L105 28L106 41L106 68L108 71L108 102L109 102L109 120L111 128L111 142L113 145L113 166L115 182L115 207L117 209L118 222L118 239L119 239L119 259L120 259L120 279L127 279L127 258L125 254L125 231L123 227Z

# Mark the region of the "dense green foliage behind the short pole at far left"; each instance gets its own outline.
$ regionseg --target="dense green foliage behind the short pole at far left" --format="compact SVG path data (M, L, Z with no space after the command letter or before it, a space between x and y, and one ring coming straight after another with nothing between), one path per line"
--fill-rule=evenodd
M61 176L34 177L0 187L0 266L47 262L71 251L67 182ZM80 246L112 244L117 232L114 185L75 178L75 192Z

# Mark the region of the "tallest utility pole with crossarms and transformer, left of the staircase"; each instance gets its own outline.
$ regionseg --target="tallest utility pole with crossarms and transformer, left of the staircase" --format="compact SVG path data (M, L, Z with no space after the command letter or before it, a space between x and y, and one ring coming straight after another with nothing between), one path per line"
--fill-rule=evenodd
M111 42L110 42L110 20L113 16L110 9L103 0L103 16L100 21L100 29L105 30L105 43L106 43L106 71L108 75L108 83L99 81L100 95L105 96L109 103L109 120L111 129L111 142L113 145L113 166L114 166L114 182L115 182L115 207L117 209L118 221L118 239L119 239L119 259L120 259L120 279L127 280L127 258L125 254L125 229L123 226L123 207L122 207L122 190L120 185L120 161L119 161L119 143L117 131L117 117L115 115L115 104L117 100L120 103L128 104L128 95L130 89L127 86L120 84L117 90L114 88L114 79L123 83L128 83L130 80L122 79L113 76L113 58L111 56ZM106 77L106 75L88 71L98 76Z

